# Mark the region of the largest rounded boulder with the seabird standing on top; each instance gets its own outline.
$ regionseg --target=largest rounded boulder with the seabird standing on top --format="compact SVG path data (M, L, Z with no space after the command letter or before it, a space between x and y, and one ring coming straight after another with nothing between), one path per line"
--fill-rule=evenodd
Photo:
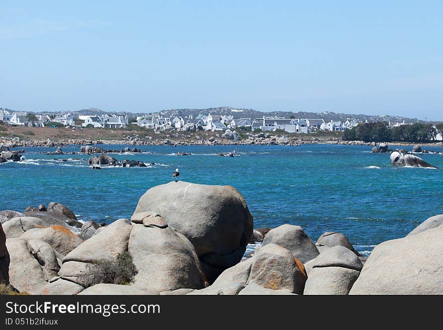
M253 218L231 186L170 182L140 197L134 214L157 212L195 248L209 282L236 265L250 241Z

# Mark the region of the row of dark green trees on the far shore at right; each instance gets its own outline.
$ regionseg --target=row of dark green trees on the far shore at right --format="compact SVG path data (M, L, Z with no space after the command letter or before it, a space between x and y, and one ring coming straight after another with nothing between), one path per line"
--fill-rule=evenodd
M360 123L352 129L346 129L342 139L364 142L429 143L435 141L436 135L437 130L429 124L415 123L390 128L386 122L377 122Z

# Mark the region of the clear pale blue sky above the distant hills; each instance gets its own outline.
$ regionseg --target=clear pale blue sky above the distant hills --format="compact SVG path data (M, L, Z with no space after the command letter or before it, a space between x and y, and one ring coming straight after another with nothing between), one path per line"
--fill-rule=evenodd
M441 1L2 1L0 107L443 121Z

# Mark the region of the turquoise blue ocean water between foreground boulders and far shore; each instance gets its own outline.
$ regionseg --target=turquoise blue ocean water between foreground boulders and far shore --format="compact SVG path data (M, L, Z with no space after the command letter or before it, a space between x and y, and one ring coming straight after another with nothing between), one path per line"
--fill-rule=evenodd
M129 218L138 198L150 187L172 180L179 168L183 181L237 188L256 228L299 225L314 242L326 231L338 231L366 255L375 245L404 237L427 217L443 213L443 155L421 156L440 168L435 170L393 167L389 154L374 154L368 146L140 148L145 153L110 155L156 165L91 170L86 163L90 156L46 155L55 148L25 148L24 162L0 164L0 210L23 211L29 205L56 201L82 221L111 223ZM217 156L234 149L234 158ZM80 146L62 150L80 151ZM173 155L177 152L192 155Z

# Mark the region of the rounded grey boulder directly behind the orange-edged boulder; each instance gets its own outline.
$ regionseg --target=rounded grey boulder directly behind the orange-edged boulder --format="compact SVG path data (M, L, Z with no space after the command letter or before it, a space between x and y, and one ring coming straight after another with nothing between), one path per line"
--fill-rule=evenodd
M281 225L266 234L263 247L268 244L278 244L289 250L294 257L306 263L319 255L319 251L300 226Z

